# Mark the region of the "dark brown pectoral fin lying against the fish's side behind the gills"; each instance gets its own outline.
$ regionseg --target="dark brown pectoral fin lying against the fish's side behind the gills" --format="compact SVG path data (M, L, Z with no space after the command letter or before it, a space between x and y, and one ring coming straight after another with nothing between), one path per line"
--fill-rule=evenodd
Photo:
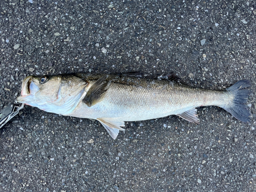
M104 75L103 77L99 78L83 98L82 101L89 107L99 102L103 98L105 92L108 90L111 81L105 81L106 78L108 78L108 75Z

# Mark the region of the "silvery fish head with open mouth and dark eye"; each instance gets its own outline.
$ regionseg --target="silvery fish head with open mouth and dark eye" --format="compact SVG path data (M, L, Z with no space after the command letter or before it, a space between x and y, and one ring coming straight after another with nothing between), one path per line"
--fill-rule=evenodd
M84 96L81 90L86 86L85 81L73 75L28 76L23 80L22 96L17 97L17 101L57 113L56 109L61 106L73 107Z

